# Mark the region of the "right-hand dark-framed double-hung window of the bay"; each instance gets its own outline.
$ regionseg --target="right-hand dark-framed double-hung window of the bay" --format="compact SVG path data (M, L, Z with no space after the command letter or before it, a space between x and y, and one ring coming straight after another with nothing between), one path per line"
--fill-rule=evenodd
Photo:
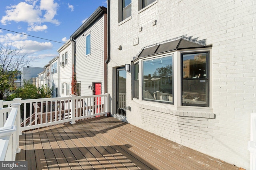
M182 105L208 106L207 55L182 55Z

